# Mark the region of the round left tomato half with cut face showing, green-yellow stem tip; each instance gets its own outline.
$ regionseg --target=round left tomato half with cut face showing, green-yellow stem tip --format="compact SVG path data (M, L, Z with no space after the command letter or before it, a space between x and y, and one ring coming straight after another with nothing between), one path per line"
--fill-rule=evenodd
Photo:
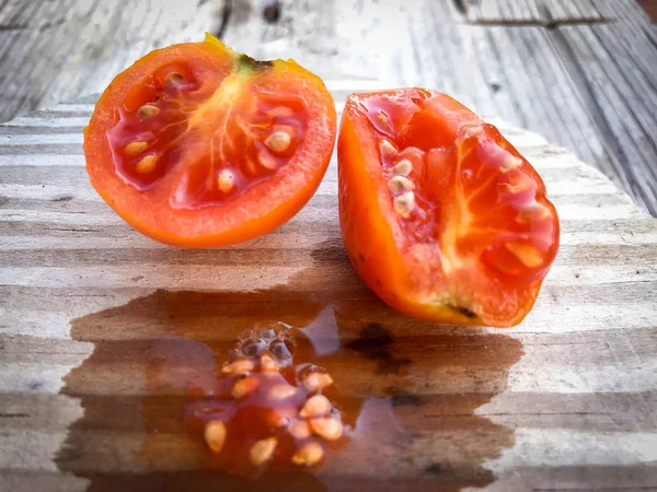
M84 132L91 183L141 233L177 246L251 239L295 215L331 159L323 82L209 36L119 73Z

